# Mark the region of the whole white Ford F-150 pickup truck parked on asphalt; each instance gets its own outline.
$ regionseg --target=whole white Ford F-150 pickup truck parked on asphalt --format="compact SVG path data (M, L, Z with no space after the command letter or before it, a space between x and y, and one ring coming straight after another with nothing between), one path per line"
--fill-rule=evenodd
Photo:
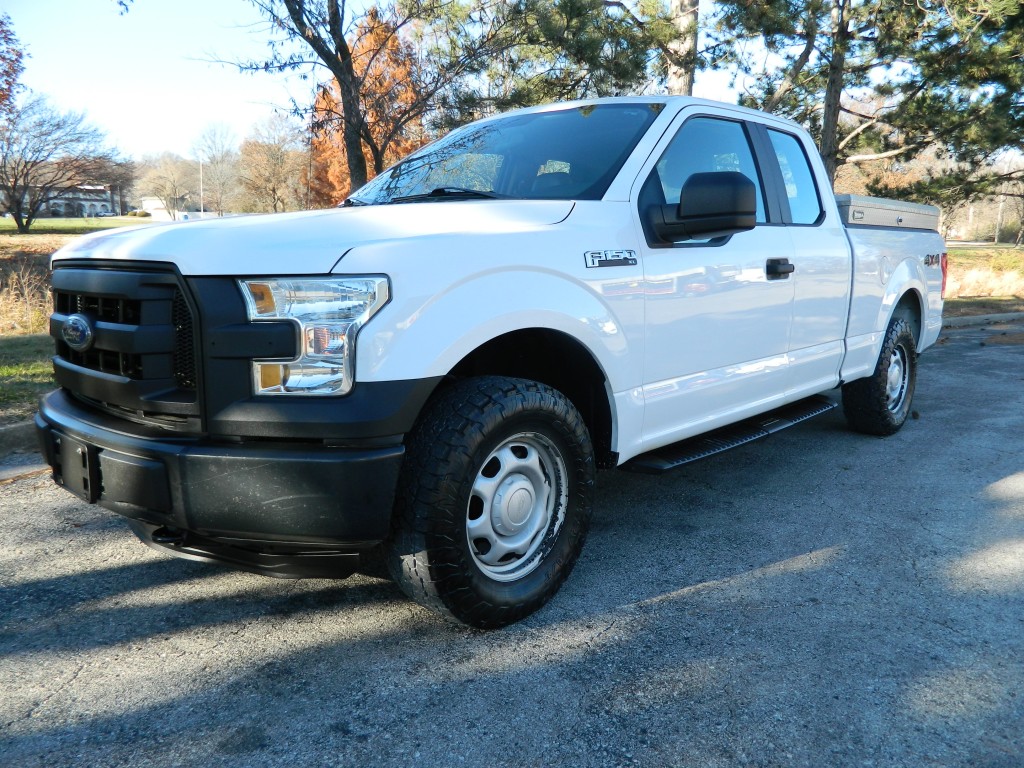
M830 193L798 125L683 97L473 123L339 209L53 257L56 482L172 554L386 562L449 618L542 606L598 468L658 472L834 407L907 418L937 210Z

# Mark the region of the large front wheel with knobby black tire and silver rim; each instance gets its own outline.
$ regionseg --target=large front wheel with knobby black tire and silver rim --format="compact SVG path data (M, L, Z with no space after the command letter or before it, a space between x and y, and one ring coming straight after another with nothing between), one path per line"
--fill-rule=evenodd
M391 573L447 618L478 628L517 622L572 569L593 485L590 437L564 395L523 379L460 382L410 439Z

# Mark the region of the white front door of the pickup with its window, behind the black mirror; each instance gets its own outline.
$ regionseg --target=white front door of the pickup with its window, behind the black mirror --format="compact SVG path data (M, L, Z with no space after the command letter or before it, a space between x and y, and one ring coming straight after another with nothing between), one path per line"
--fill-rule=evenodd
M645 450L785 399L793 244L755 157L751 128L741 119L685 111L634 186L647 331ZM659 238L650 209L678 205L693 174L723 171L754 182L755 228L706 241Z

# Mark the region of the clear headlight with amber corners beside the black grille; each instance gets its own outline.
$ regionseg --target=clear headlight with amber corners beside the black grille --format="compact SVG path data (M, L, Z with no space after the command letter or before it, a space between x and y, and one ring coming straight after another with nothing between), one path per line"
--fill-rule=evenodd
M268 278L239 281L250 321L292 321L294 360L253 360L256 394L347 394L355 336L390 296L387 278Z

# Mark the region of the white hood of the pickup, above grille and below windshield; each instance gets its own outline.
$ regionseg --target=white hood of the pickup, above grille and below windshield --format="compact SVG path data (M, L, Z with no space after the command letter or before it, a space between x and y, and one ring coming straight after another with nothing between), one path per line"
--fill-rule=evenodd
M79 238L57 251L53 261L162 261L186 275L323 274L356 246L444 234L511 234L558 223L571 210L572 203L561 200L474 200L150 224Z

